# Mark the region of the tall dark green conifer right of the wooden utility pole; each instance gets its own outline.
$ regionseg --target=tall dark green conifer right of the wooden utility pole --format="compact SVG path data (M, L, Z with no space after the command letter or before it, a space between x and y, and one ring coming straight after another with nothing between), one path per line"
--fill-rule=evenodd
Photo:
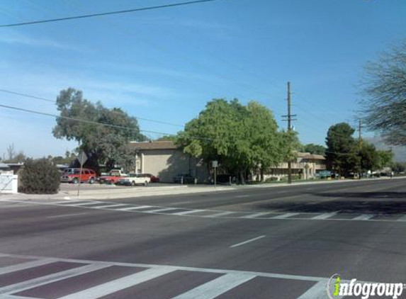
M327 131L327 167L340 175L359 172L359 155L354 137L355 130L348 123L337 123Z

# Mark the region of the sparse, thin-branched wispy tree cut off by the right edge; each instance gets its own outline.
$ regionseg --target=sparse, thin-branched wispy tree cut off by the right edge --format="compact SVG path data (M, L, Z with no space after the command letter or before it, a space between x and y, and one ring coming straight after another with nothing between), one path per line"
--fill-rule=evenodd
M366 64L363 115L371 130L406 145L406 40Z

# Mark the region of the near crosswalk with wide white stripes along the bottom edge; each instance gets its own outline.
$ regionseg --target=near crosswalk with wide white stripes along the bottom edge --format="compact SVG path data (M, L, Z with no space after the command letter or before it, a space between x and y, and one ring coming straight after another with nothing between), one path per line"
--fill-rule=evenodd
M325 292L327 280L281 273L0 255L1 299L247 298L236 293L249 293L251 298L314 299L310 295ZM293 286L295 293L284 292L283 285Z

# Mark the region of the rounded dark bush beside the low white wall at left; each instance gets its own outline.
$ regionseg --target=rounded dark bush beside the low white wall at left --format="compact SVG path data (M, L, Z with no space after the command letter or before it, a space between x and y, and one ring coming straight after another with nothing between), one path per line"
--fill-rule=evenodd
M60 171L47 159L28 159L20 174L19 191L30 194L55 194L61 184Z

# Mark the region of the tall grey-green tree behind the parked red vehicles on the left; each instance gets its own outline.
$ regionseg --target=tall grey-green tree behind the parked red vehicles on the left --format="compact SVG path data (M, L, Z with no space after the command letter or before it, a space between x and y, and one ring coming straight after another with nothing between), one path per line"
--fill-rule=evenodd
M57 97L57 110L64 118L57 118L54 136L79 142L78 152L83 150L88 157L86 166L97 172L100 164L113 168L115 164L127 164L130 159L134 161L135 152L130 148L129 142L146 140L140 133L135 118L121 108L109 109L100 102L92 103L83 98L81 91L72 88L62 90ZM67 118L86 120L89 123Z

